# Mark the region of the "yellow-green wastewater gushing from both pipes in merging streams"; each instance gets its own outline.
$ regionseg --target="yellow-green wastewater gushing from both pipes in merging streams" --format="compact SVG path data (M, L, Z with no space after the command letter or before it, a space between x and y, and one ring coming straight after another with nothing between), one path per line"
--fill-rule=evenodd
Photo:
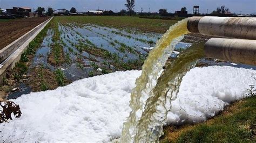
M123 125L120 142L159 140L167 111L171 108L166 108L166 102L176 97L182 77L203 56L201 47L187 49L163 71L174 47L189 33L186 24L187 19L184 19L171 26L145 60L142 75L137 78L131 93L132 111Z

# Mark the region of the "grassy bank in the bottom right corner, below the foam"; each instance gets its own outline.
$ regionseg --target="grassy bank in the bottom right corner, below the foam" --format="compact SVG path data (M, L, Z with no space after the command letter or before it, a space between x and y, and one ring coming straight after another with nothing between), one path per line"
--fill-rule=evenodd
M196 125L167 126L160 142L256 142L256 96Z

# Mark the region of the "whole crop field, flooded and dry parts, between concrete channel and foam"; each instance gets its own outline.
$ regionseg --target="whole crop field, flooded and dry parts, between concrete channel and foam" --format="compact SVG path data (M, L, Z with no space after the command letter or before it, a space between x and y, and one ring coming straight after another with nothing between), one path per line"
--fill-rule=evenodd
M126 22L131 18L134 23L129 25ZM110 24L112 20L116 25ZM8 96L14 98L31 91L56 89L84 77L141 69L161 33L140 27L153 24L157 29L167 23L166 29L174 20L163 20L157 26L154 19L138 17L55 17L30 43L1 89L10 92L19 87ZM126 26L120 27L122 24ZM177 51L190 45L180 42ZM177 53L172 56L175 58Z

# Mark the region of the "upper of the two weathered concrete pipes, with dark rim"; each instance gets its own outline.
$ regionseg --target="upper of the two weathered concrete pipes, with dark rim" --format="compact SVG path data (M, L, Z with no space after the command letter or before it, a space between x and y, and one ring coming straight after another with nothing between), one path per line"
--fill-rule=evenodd
M214 37L256 40L256 18L191 17L188 31Z

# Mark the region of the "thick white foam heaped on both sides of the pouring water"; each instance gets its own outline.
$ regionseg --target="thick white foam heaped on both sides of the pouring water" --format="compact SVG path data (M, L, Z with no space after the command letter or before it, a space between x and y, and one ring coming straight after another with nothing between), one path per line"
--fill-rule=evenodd
M123 71L84 78L53 91L15 99L21 118L0 126L6 142L104 142L118 138L130 108L130 92L141 71ZM198 122L212 117L230 102L246 97L256 85L252 69L194 68L183 78L168 124Z

